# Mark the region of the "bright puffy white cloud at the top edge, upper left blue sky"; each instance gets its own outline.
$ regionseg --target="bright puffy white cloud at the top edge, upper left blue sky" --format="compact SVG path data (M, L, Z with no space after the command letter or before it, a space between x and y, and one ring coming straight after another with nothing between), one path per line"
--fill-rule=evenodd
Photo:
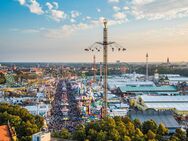
M41 15L44 13L42 10L42 7L40 7L40 4L36 0L31 0L30 4L27 4L27 7L29 8L31 13Z

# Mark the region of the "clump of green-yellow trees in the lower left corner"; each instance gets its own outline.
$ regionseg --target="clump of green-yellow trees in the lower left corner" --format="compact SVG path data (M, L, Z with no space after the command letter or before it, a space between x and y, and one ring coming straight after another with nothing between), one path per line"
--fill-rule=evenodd
M43 126L43 117L30 114L27 109L18 105L0 104L0 125L6 125L7 122L16 131L19 141L30 141L34 133L40 131Z

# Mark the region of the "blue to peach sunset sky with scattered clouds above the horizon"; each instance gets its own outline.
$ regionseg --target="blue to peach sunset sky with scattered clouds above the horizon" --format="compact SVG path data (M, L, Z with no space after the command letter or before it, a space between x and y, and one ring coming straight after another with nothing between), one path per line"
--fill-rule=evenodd
M0 62L101 62L104 19L109 62L188 60L188 0L0 0Z

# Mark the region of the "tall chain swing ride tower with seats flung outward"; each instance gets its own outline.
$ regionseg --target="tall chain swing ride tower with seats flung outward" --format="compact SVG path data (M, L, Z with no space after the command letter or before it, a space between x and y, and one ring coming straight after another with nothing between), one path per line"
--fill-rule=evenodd
M86 48L85 51L98 51L100 52L101 49L103 49L103 71L104 71L104 79L103 79L103 113L102 117L106 117L107 112L107 76L108 76L108 47L114 51L117 49L118 51L125 51L126 49L121 47L116 42L108 42L108 28L107 28L107 20L104 19L104 28L103 28L103 42L95 42L93 45L91 45L89 48ZM100 46L99 46L100 45ZM102 47L101 47L102 46Z

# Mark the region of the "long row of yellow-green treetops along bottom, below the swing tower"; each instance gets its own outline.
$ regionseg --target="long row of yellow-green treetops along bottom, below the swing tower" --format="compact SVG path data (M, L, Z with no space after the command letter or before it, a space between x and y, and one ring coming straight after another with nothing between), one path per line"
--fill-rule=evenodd
M54 132L54 137L77 141L187 141L187 133L177 129L173 135L161 123L149 120L143 123L129 117L105 118L79 125L70 133L67 129Z

